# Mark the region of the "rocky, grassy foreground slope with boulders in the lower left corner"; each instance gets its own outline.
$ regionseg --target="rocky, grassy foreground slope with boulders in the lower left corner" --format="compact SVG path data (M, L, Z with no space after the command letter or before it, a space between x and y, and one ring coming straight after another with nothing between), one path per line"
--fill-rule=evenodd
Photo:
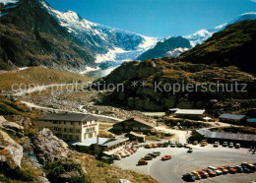
M148 175L122 170L69 149L50 130L37 131L39 111L24 113L25 109L17 106L19 101L1 96L3 102L17 110L0 108L4 114L0 116L1 182L157 182Z

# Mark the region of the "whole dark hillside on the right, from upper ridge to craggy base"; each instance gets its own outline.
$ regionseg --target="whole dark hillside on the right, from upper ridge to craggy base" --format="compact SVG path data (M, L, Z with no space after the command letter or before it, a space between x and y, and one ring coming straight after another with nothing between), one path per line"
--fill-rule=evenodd
M255 98L255 77L243 72L255 73L252 50L256 42L255 23L243 21L230 25L178 58L125 63L96 82L122 84L124 90L116 88L105 96L105 101L140 110L206 108L212 99ZM129 76L125 74L127 70ZM220 88L235 83L245 84L246 91L234 91L234 88L230 91L228 87L221 91L210 90L212 85ZM194 90L186 90L188 85ZM202 85L207 90L201 88ZM195 86L201 87L195 90Z

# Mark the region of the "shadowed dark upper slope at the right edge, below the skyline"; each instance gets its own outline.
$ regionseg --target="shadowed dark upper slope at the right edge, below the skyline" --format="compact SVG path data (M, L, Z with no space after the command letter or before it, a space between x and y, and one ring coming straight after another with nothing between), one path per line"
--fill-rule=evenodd
M206 42L181 54L185 62L234 65L245 72L256 74L256 21L248 20L227 26Z

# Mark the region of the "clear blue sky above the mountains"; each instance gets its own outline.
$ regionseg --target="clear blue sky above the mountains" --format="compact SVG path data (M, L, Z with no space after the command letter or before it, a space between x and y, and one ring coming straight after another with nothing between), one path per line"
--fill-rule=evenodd
M46 0L105 26L148 36L187 35L211 29L247 12L256 0Z

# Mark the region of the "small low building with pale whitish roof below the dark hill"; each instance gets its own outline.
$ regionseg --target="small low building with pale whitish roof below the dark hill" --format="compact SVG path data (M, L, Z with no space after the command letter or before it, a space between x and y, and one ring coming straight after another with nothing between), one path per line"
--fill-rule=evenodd
M201 119L204 113L204 109L178 109L174 114L179 118Z

